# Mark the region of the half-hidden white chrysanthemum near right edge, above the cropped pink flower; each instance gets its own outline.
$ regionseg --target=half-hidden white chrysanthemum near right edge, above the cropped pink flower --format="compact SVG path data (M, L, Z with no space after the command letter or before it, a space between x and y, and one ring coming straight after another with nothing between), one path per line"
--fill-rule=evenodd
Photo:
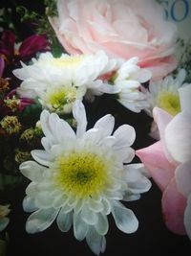
M185 70L180 69L176 78L170 75L161 81L150 83L147 95L150 108L146 109L150 115L152 115L152 110L155 106L164 109L173 116L180 112L179 88L187 85L187 83L183 83L185 75Z

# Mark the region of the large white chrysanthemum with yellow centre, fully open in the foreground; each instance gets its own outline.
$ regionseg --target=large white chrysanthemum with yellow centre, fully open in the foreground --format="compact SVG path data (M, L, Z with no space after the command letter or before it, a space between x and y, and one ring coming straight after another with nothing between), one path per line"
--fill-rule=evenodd
M44 151L32 151L34 161L21 164L20 171L32 180L26 189L24 209L33 212L26 229L30 233L48 228L56 220L66 232L74 226L74 237L96 253L106 246L107 215L112 213L117 227L132 233L138 220L119 200L135 200L149 190L151 182L141 164L124 165L134 157L130 148L134 128L123 125L113 133L115 120L106 115L86 131L84 106L74 103L76 134L55 113L43 110L40 123L45 134Z

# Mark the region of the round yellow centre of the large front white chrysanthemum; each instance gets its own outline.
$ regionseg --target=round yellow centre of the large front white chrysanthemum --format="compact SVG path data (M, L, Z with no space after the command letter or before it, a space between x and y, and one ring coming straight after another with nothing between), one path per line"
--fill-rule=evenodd
M73 152L57 159L57 185L77 198L100 193L109 182L108 164L91 152Z

